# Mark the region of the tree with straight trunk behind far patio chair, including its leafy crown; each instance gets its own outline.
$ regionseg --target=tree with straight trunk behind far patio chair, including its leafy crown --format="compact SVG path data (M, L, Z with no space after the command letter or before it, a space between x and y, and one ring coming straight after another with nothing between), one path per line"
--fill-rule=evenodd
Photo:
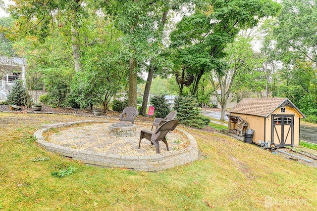
M106 10L113 15L116 26L124 36L129 48L129 106L137 106L137 74L146 67L146 62L155 58L162 48L162 15L168 11L166 0L111 0Z

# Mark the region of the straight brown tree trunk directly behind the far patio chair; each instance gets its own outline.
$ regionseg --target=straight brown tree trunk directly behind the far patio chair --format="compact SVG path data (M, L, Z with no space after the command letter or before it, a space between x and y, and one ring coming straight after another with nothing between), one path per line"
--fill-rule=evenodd
M137 62L135 61L135 58L130 58L128 106L133 106L137 108L137 73L135 71L136 66Z

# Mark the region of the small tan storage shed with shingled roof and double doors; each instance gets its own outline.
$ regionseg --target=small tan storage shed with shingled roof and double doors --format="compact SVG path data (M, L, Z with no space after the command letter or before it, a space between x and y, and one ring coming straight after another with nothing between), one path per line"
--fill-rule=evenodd
M253 142L270 141L278 147L299 145L300 119L305 118L287 98L245 98L227 116L229 134L236 136L245 121L254 130Z

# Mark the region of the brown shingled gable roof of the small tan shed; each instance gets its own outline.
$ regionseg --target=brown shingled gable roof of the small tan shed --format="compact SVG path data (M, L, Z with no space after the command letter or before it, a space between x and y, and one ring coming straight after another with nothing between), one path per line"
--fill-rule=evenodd
M283 106L289 106L296 109L299 114L305 118L305 115L302 114L289 99L277 97L244 98L230 110L230 113L268 117L277 108Z

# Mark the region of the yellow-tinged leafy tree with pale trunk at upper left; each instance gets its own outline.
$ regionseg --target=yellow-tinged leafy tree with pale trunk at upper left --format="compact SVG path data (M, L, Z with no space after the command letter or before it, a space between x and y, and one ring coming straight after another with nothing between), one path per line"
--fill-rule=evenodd
M92 10L94 1L87 0L50 0L48 2L34 0L13 0L8 11L15 19L14 27L8 29L12 40L26 38L31 42L46 42L56 33L63 37L64 46L70 46L73 67L78 72L81 69L80 29L85 28L84 20L95 12Z

